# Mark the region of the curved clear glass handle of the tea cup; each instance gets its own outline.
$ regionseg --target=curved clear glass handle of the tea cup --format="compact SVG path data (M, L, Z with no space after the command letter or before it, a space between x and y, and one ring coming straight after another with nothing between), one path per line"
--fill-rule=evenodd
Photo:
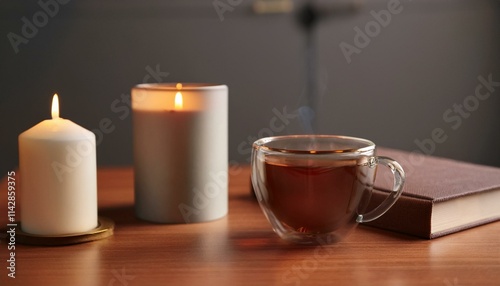
M391 158L383 156L372 157L372 160L370 161L374 161L375 164L381 164L391 169L391 172L394 175L394 186L392 187L392 192L389 194L389 196L378 207L368 212L367 214L358 215L358 217L356 218L357 222L369 222L381 217L394 205L394 203L396 203L398 198L401 196L401 193L403 192L405 171L398 162L394 161Z

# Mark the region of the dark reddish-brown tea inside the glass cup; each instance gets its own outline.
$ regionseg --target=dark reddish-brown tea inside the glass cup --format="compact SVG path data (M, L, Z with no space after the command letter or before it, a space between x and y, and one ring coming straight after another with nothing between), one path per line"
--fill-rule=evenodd
M268 205L297 232L327 233L354 226L371 192L373 169L354 160L327 166L265 163Z

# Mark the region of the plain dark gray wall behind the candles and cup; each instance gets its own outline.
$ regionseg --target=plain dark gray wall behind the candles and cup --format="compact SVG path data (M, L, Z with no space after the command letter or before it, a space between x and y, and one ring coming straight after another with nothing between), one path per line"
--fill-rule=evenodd
M304 3L294 1L291 13L257 15L244 0L221 20L213 1L69 1L15 53L7 35L22 36L22 17L32 21L42 8L2 1L1 174L18 164L19 133L50 117L55 92L62 117L93 130L112 122L112 132L97 134L99 165L130 165L131 116L121 99L144 79L227 84L228 151L238 162L246 162L255 138L270 133L353 135L411 151L419 148L415 140L441 128L447 139L432 154L500 166L500 87L459 126L443 119L474 95L478 76L500 81L499 1L401 1L400 13L350 63L339 45L354 45L354 28L364 30L371 11L386 10L388 1L361 2L345 14L327 11L349 1L314 2L325 16L311 37L313 106L307 37L297 21ZM156 69L162 74L148 78ZM314 110L312 130L293 116L307 106ZM286 128L272 130L270 120L284 110L291 114Z

